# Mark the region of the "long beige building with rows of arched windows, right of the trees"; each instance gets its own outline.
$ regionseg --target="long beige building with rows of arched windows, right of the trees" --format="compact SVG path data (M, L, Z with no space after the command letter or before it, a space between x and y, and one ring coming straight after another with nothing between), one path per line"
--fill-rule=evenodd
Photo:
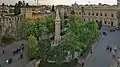
M115 7L84 8L83 16L81 9L75 10L75 13L84 21L95 21L102 25L118 27L117 8Z

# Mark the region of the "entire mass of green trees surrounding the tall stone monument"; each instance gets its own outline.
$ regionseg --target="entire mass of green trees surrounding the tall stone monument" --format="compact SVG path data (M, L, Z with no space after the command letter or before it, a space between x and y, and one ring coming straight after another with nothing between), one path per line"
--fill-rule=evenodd
M38 45L35 58L41 59L43 63L56 61L57 64L60 64L66 60L68 52L73 55L75 52L85 51L99 35L98 26L95 22L84 22L71 16L67 23L67 32L62 36L61 43L53 46L50 34L54 35L54 18L55 16L48 16L42 22L26 19L21 26L22 35L24 37L30 36L29 41L32 40L32 36L37 38Z

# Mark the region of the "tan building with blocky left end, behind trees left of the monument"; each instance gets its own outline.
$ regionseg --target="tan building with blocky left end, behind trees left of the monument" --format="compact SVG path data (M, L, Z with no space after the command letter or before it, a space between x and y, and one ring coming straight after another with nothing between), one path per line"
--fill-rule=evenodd
M21 15L23 15L25 19L32 18L43 20L46 16L50 14L52 14L50 8L45 8L45 6L29 6L21 8Z

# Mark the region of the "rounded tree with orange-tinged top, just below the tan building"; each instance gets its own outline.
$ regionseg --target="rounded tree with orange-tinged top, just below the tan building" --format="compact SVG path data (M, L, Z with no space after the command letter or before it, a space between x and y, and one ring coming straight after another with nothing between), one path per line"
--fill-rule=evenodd
M44 34L43 31L47 32L48 29L39 20L26 19L21 25L21 35L25 38L33 35L39 39Z

